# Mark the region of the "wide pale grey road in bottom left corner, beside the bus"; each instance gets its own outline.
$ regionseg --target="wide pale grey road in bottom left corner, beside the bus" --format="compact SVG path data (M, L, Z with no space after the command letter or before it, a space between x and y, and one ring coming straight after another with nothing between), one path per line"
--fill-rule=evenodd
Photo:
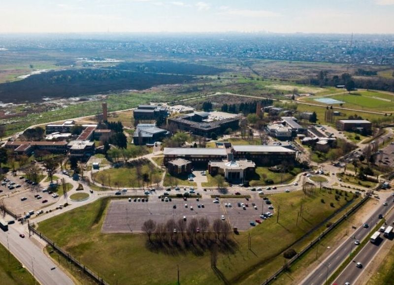
M9 249L12 254L34 275L35 279L42 285L72 285L72 280L52 261L50 257L42 252L29 238L21 238L19 234L23 232L21 225L15 223L9 226L8 231L0 230L0 242L7 248L7 237ZM51 270L51 268L56 268ZM1 283L1 281L0 281Z

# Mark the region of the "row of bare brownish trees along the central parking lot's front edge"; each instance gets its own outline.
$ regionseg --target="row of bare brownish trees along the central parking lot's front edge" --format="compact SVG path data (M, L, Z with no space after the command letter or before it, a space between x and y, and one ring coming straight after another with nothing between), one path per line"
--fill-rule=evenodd
M149 243L173 244L193 243L198 240L213 244L226 242L230 239L231 227L227 221L216 219L210 224L207 218L192 218L190 221L170 219L165 223L147 220L141 230L146 234Z

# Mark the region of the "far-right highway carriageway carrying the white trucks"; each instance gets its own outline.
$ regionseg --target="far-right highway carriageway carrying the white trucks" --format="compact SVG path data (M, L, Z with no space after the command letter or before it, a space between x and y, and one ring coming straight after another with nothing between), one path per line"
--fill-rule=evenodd
M394 213L391 214L387 218L387 223L392 224L394 221ZM377 243L373 244L368 242L365 247L358 253L353 262L350 262L348 266L342 271L342 273L338 276L333 284L345 284L345 282L349 282L350 284L356 284L357 280L360 278L362 272L369 265L369 263L373 260L373 258L379 254L379 249L382 248L384 243L392 242L388 238L381 234L381 238ZM363 267L356 267L356 262L361 262Z

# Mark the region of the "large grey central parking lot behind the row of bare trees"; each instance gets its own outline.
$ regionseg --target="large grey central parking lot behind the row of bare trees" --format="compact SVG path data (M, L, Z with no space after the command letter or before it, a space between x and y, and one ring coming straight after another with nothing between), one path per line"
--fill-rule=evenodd
M221 219L224 215L225 219L230 222L232 227L237 227L238 230L247 230L251 228L251 221L260 220L263 224L263 219L260 218L262 214L262 200L258 199L256 204L258 209L252 207L252 199L246 201L244 198L239 199L220 199L220 203L213 203L213 198L200 198L197 201L195 198L184 201L183 199L172 199L170 202L163 202L157 197L151 197L149 202L134 202L133 199L129 202L127 199L112 200L110 202L105 221L102 226L102 232L141 232L143 222L152 219L157 223L165 223L170 219L177 222L179 219L186 217L187 221L193 218L207 218L209 222L215 219ZM245 210L238 207L237 203L248 203L249 207ZM231 204L231 207L225 207L225 204ZM187 204L187 207L185 207ZM198 207L203 204L204 207ZM176 208L174 208L174 205ZM193 207L193 210L192 210ZM268 212L268 206L264 204L264 212Z

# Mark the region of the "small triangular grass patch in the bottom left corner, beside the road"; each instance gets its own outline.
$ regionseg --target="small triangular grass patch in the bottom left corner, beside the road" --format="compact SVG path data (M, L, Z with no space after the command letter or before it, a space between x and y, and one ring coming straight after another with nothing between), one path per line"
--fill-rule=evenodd
M33 276L23 265L9 254L8 251L0 244L0 284L4 285L28 285L36 284Z

